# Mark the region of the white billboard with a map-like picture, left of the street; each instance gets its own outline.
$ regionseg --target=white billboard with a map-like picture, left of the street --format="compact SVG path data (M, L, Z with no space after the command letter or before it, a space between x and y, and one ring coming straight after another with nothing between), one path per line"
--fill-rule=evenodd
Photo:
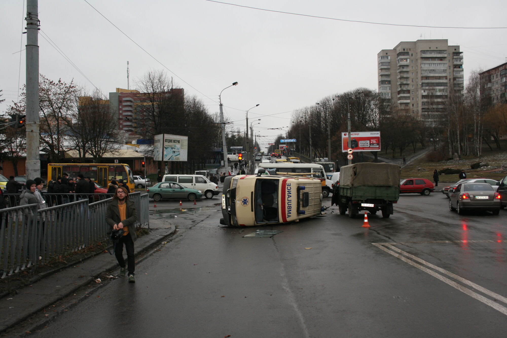
M188 136L159 134L153 142L155 161L187 161Z

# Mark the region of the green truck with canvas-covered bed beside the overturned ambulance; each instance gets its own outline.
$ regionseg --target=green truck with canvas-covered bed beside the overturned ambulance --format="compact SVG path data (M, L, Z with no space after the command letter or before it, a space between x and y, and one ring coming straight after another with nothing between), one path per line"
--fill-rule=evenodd
M389 163L355 163L340 168L340 184L333 187L331 205L338 206L340 215L348 210L355 218L361 210L382 217L393 214L393 203L400 198L401 167Z

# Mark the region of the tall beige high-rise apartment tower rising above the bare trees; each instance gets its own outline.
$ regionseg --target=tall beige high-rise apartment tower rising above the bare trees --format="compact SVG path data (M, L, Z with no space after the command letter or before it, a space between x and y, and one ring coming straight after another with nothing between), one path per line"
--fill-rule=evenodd
M463 53L447 39L403 41L377 56L380 95L428 125L440 124L448 96L463 91Z

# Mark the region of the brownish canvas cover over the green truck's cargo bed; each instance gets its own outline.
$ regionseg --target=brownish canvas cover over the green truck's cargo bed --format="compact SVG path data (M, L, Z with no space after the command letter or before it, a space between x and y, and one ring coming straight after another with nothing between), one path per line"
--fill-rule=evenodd
M340 168L340 187L400 186L401 167L390 163L355 163Z

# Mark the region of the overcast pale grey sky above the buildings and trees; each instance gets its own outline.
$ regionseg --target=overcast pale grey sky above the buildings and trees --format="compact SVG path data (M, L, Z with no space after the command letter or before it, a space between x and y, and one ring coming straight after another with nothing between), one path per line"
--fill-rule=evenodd
M388 26L289 15L213 3L205 0L87 0L171 72L187 94L217 112L222 94L226 120L245 128L245 111L267 143L290 124L291 112L322 97L357 87L377 90L377 53L400 41L444 38L461 46L465 81L471 70L505 62L507 29L444 29ZM391 24L505 27L507 2L498 1L330 1L330 0L225 0L231 4L337 19ZM64 81L92 84L71 66L43 37L54 41L103 93L127 88L130 62L134 80L150 69L165 69L84 0L40 0L40 72ZM2 48L0 105L17 99L25 80L26 1L0 4ZM23 39L21 41L21 39ZM20 48L21 46L21 48ZM13 54L14 53L14 54ZM167 70L167 69L165 69ZM465 82L466 84L466 82ZM193 88L192 88L193 87ZM262 116L272 115L273 116Z

